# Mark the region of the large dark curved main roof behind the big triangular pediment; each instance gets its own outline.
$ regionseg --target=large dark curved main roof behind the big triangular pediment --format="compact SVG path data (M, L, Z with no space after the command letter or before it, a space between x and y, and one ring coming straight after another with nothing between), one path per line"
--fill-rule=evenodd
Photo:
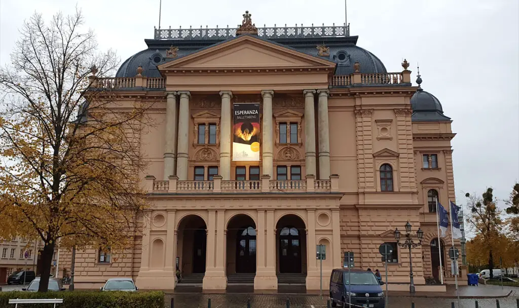
M234 38L231 38L234 39ZM261 38L260 39L264 39ZM370 73L387 73L384 63L380 61L370 51L367 51L357 46L358 36L342 37L342 38L321 38L319 40L282 40L282 39L265 39L270 43L282 45L287 48L294 49L299 52L303 52L315 57L323 58L332 62L337 63L336 75L349 75L352 74L353 64L356 61L360 63L360 71L364 74ZM229 39L230 40L230 39ZM194 53L198 50L208 48L215 44L221 44L224 41L157 41L157 40L146 40L148 49L135 53L125 62L122 63L119 70L117 71L116 77L134 77L136 69L139 65L142 65L142 75L150 78L161 77L160 72L157 69L157 65L163 64L171 59L166 58L166 50L169 49L172 44L177 46L177 57L184 57L190 53ZM318 55L317 45L325 44L330 47L330 55L321 57Z

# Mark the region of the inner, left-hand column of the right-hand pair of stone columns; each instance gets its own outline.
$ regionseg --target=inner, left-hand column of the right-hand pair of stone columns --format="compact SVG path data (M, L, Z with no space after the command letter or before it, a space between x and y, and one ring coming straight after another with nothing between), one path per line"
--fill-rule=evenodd
M313 108L313 94L316 90L305 90L305 164L306 175L316 173L316 117Z

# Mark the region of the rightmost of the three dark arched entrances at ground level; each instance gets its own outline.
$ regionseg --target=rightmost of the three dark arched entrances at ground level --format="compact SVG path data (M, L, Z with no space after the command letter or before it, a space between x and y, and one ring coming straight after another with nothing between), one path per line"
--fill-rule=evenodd
M306 273L305 222L296 215L285 215L276 224L278 273Z

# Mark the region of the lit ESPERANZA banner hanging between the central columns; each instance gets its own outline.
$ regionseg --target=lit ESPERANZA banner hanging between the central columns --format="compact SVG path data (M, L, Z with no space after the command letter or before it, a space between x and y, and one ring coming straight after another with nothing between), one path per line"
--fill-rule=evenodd
M234 104L233 160L260 160L260 104Z

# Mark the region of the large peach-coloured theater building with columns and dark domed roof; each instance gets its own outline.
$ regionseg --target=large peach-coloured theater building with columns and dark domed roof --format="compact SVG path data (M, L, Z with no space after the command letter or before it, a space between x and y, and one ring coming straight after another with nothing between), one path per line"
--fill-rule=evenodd
M94 77L128 106L154 103L158 124L140 136L142 234L124 256L77 251L76 288L131 276L173 289L179 269L203 289L319 289L319 244L327 288L346 251L384 275L387 242L390 289L408 289L411 260L394 239L407 221L415 240L425 234L411 254L417 290L439 280L450 235L440 254L434 198L455 200L452 121L407 61L390 73L358 38L348 25L256 27L247 12L237 29L156 29L115 77Z

